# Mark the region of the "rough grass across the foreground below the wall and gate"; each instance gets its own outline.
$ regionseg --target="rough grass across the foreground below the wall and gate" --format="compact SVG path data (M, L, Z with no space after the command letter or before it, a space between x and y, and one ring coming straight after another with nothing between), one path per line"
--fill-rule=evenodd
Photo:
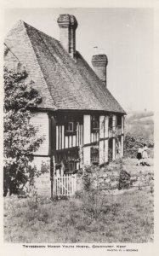
M152 242L153 195L147 189L105 195L97 219L81 197L60 201L5 198L4 241Z

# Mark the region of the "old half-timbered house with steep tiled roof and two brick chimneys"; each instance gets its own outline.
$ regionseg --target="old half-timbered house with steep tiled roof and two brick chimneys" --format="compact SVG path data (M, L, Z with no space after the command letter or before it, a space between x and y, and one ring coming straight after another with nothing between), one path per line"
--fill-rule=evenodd
M31 120L45 135L34 161L38 168L48 163L41 186L50 194L50 176L51 195L55 177L122 157L125 114L107 89L107 56L93 55L93 70L76 49L76 18L60 15L57 22L60 41L20 20L4 44L5 65L25 68L43 98Z

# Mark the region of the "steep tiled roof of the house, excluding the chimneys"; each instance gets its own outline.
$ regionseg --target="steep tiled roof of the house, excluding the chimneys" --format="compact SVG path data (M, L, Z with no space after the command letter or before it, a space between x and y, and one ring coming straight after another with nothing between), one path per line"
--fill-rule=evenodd
M76 60L59 41L19 21L6 45L14 52L43 96L43 108L125 113L79 52Z

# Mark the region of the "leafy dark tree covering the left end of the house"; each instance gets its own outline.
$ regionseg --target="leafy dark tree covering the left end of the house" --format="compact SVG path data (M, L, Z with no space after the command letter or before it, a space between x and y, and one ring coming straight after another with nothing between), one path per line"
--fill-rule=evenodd
M29 120L32 109L42 102L31 81L26 83L26 71L15 73L4 67L4 119L3 119L3 195L19 194L36 167L31 166L33 152L43 143L37 137L37 128Z

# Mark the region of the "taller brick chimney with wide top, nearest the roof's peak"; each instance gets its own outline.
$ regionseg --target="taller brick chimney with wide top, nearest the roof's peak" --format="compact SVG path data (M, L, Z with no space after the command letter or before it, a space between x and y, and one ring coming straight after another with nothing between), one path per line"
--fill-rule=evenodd
M77 19L73 15L60 15L57 20L60 26L60 44L74 57L76 54Z

